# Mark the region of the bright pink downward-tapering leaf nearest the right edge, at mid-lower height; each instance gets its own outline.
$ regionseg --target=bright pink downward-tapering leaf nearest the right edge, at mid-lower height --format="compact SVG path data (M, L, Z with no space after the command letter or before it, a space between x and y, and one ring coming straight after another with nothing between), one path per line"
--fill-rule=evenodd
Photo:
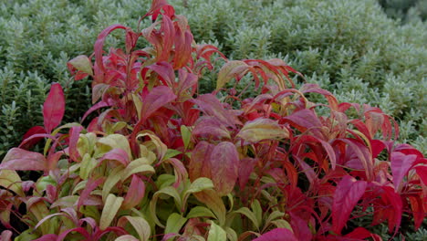
M411 169L412 163L417 159L416 155L405 155L401 152L391 152L391 173L393 175L394 189L401 191L401 181Z

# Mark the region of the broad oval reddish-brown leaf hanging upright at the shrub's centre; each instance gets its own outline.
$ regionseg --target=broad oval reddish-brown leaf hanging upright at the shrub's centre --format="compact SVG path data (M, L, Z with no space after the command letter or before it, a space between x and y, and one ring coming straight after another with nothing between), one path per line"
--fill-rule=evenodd
M220 196L230 194L237 181L239 154L232 142L223 141L213 148L209 158L211 179Z

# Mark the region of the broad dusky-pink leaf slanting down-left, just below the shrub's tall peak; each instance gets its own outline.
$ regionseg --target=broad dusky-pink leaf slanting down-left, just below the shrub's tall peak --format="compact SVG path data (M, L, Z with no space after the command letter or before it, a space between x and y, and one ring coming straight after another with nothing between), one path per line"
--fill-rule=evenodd
M147 120L152 113L175 99L176 96L173 94L172 89L166 86L158 86L151 89L150 93L142 100L142 118Z

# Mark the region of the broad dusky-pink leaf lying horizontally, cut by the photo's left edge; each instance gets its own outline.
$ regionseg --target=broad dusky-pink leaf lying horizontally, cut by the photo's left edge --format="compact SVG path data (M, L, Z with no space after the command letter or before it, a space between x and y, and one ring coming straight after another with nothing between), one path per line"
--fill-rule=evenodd
M46 158L37 152L28 152L20 148L12 148L6 153L0 164L0 170L15 171L46 171Z

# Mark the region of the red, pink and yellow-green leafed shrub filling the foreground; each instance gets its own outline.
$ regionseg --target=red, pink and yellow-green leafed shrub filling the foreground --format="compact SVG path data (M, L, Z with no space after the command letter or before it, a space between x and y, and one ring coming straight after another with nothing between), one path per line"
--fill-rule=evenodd
M390 116L314 84L296 89L289 74L300 74L280 59L229 61L195 44L165 0L147 16L151 26L109 26L93 56L69 61L76 80L93 79L82 123L57 127L65 98L53 84L44 126L7 152L2 240L380 240L349 220L368 215L394 235L403 215L422 225L427 161L393 141ZM106 53L116 29L125 49ZM151 46L135 49L140 37ZM216 61L224 62L217 88L199 95ZM255 98L224 88L246 75L261 91ZM313 94L326 101L311 102ZM43 153L30 151L43 140ZM42 175L33 182L17 171Z

